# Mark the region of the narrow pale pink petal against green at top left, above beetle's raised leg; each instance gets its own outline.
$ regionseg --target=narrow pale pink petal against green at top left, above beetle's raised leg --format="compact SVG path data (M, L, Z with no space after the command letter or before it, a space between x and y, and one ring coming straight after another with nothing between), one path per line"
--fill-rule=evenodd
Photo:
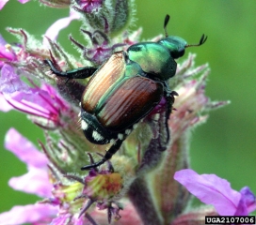
M79 14L75 11L71 11L69 17L59 19L56 21L56 23L53 23L47 29L44 36L49 37L51 40L56 40L60 30L67 27L73 20L78 20L78 19L79 19ZM43 38L43 45L48 46L48 41L45 37Z

